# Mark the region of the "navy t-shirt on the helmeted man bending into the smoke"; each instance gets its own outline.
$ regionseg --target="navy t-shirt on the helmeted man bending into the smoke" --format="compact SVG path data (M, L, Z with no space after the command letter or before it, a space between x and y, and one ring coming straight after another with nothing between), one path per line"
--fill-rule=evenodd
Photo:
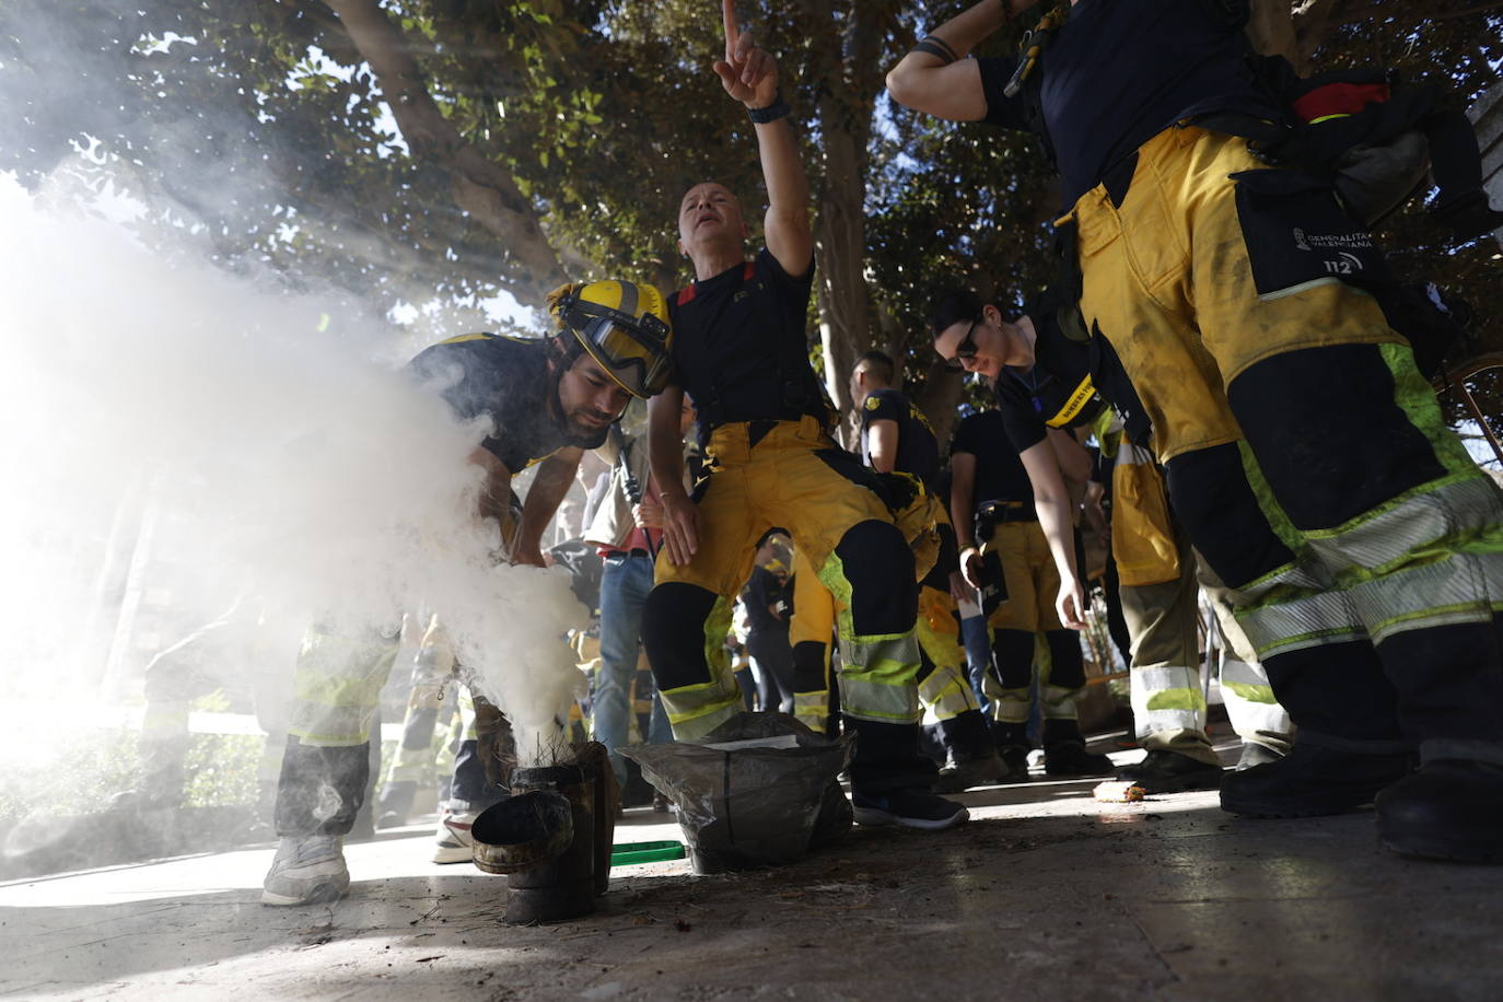
M407 371L433 388L463 421L487 415L481 448L517 473L565 446L597 449L609 428L573 436L549 412L553 376L543 338L466 333L419 352Z

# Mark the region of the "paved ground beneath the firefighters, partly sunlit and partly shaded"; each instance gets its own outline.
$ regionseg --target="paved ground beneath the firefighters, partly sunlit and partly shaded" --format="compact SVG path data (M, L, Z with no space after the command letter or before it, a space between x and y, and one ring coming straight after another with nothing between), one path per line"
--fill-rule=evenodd
M972 792L959 829L857 829L777 870L621 868L597 915L552 927L502 924L504 880L425 868L412 834L352 850L353 892L334 906L256 903L268 852L143 867L131 900L68 903L99 876L11 885L0 987L1058 1002L1492 999L1503 982L1503 868L1384 853L1371 814L1244 822L1214 793L1109 805L1090 787ZM189 864L222 882L173 876Z

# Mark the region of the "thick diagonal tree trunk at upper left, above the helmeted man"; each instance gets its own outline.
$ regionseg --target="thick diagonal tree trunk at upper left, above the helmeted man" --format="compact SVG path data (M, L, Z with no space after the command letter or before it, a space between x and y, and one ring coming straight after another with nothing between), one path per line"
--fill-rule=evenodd
M376 74L397 128L412 156L449 177L454 204L470 213L500 245L507 290L520 302L541 305L567 281L538 213L511 174L466 143L428 93L422 71L377 0L325 0L340 15L350 41Z

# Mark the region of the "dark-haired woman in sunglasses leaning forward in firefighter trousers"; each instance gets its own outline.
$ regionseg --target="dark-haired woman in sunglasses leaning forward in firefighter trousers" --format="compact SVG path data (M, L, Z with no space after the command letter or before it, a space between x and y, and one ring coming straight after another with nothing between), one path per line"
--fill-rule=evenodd
M1151 427L1132 383L1105 338L1076 341L1066 335L1070 329L1084 332L1073 303L1051 291L1036 297L1016 320L969 291L945 296L933 317L935 350L951 365L995 382L1003 422L1034 484L1042 523L1063 491L1048 436L1063 434L1058 428L1094 425L1109 406L1117 409L1124 428L1112 470L1112 554L1132 635L1136 736L1148 751L1144 762L1121 769L1118 778L1148 793L1216 789L1222 768L1205 733L1195 632L1196 557L1163 500L1162 472L1142 448ZM1073 541L1063 529L1045 523L1045 532L1057 562L1073 556ZM1063 571L1061 580L1060 616L1075 625L1066 607L1078 610L1078 586ZM1288 750L1293 724L1240 628L1229 622L1223 592L1214 581L1208 584L1213 601L1228 611L1222 619L1234 655L1222 665L1222 693L1232 727L1243 738L1243 763L1276 759Z

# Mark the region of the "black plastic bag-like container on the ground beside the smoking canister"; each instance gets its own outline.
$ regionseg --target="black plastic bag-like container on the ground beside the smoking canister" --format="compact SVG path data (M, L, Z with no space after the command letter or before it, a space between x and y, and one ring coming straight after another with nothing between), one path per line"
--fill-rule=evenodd
M700 742L621 754L678 807L696 873L794 862L851 829L836 777L855 739L816 735L786 714L736 714Z

